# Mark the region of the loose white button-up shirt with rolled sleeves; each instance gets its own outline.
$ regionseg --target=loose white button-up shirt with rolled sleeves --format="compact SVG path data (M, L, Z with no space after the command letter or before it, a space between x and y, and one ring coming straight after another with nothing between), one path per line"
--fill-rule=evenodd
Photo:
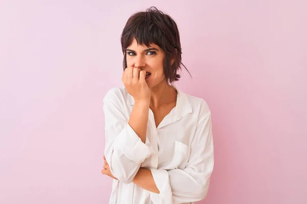
M176 107L157 128L149 109L145 143L128 124L134 98L125 87L104 97L104 154L118 179L110 204L194 203L206 197L214 165L211 112L202 98L176 90ZM140 167L151 170L159 194L131 183Z

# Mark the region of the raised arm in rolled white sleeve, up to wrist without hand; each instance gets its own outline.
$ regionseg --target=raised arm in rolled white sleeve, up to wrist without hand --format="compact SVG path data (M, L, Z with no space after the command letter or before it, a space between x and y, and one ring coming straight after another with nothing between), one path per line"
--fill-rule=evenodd
M103 110L106 161L119 181L131 183L141 163L154 152L146 140L149 105L136 101L128 120L118 103L106 96Z

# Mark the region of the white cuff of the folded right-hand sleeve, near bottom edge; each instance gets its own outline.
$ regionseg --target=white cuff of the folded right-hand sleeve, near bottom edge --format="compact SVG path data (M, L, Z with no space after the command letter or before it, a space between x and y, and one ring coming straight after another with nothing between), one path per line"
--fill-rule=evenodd
M159 202L154 203L160 203L160 204L171 204L172 202L172 193L171 193L171 187L169 183L169 176L168 172L164 169L150 169L153 180L156 183L156 186L158 190L160 191L159 194L157 193L151 193L151 197L155 200L157 200L159 196ZM158 200L157 200L158 201Z

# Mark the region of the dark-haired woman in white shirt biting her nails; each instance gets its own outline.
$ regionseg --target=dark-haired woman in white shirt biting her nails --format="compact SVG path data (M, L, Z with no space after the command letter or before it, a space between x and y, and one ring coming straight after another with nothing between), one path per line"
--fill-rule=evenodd
M194 203L205 198L213 170L211 112L180 91L176 22L155 7L123 29L124 87L104 97L109 203Z

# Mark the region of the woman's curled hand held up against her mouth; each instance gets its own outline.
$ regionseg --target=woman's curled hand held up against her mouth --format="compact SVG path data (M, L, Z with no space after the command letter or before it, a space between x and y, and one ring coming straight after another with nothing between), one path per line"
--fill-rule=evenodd
M122 75L128 93L135 101L150 100L150 90L145 81L146 71L136 67L127 67Z

